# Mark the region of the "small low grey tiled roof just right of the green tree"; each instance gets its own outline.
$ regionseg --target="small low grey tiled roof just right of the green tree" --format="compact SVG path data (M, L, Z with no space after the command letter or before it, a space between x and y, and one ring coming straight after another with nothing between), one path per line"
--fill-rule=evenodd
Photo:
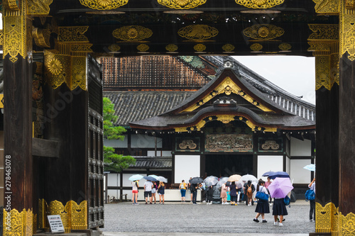
M136 164L131 165L130 169L135 168L155 168L155 169L170 169L173 167L172 157L135 157Z

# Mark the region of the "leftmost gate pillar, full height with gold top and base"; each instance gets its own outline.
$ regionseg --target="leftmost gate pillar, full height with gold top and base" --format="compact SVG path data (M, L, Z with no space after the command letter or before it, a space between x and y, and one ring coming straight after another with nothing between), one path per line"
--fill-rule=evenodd
M26 1L3 3L4 235L32 235L31 20Z

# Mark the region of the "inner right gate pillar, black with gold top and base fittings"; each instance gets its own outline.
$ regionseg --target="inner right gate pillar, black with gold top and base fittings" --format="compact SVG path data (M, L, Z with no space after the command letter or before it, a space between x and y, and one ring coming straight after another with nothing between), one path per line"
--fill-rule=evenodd
M309 25L316 79L316 223L317 235L337 231L339 203L339 27ZM327 148L324 148L327 147Z

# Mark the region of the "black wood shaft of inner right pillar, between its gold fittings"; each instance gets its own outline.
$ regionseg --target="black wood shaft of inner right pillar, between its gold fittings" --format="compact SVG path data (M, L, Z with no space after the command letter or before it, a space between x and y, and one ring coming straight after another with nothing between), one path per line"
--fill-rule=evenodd
M339 87L316 91L316 201L338 204L338 96Z

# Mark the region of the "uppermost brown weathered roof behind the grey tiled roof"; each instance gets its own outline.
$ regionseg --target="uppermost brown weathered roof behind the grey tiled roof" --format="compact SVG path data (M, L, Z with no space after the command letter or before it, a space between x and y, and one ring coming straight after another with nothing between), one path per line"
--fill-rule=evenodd
M106 89L200 89L216 74L200 57L102 57Z

